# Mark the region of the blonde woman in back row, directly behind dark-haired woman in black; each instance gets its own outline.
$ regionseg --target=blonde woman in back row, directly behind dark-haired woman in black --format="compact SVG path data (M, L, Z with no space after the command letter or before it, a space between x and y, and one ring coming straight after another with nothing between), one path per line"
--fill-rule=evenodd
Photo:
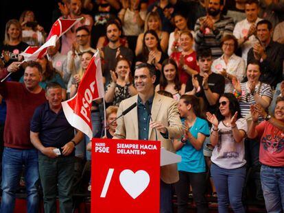
M169 44L169 34L162 31L162 22L158 12L149 12L145 19L144 32L149 29L153 29L158 35L161 48L163 52L167 50L167 45ZM140 34L137 38L137 44L135 49L135 55L142 53L143 49L143 37L144 34Z

